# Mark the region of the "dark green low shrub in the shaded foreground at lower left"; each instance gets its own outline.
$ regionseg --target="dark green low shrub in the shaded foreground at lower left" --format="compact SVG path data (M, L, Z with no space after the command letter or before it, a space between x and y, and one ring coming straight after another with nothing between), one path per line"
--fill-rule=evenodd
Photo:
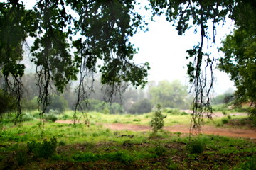
M50 157L56 152L57 139L51 138L50 141L43 140L43 142L28 142L28 152L32 152L34 157Z

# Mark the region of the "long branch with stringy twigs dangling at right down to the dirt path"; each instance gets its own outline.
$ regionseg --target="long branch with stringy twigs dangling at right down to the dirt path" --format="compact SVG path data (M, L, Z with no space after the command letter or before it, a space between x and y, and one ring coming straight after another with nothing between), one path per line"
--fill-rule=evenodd
M198 45L187 50L188 58L193 58L187 64L189 81L192 84L191 89L194 91L194 99L191 104L191 134L198 133L201 130L203 117L211 118L213 109L210 106L210 91L213 89L213 63L214 57L208 52L205 53L204 40L215 43L217 35L216 23L225 22L225 18L230 17L233 13L233 8L236 6L235 1L150 1L154 11L153 15L166 14L166 20L174 22L178 35L183 35L186 30L195 26L194 33L197 33L197 28L201 28L201 37ZM221 7L221 8L220 8ZM208 32L208 21L213 23L213 34L210 37ZM205 68L203 69L203 66ZM210 74L210 75L209 75ZM209 78L210 77L210 78Z

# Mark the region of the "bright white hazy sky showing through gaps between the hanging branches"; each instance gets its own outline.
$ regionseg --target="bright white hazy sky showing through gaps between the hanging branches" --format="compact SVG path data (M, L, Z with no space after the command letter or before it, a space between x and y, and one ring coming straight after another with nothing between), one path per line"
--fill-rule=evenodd
M34 1L23 1L24 4L31 8ZM145 1L143 1L145 2ZM146 15L146 18L150 18L149 14L142 12ZM132 43L136 47L139 47L139 52L135 55L134 60L137 63L149 62L151 70L149 71L149 81L161 81L174 79L180 79L183 84L188 85L188 78L186 75L186 50L197 45L200 40L199 34L193 33L193 28L188 30L186 35L179 36L172 23L166 21L164 16L158 16L154 18L155 22L149 22L149 31L144 33L139 31L133 38ZM217 30L217 44L220 47L220 41L225 38L225 35L230 33L229 25L226 24L225 28L221 26ZM214 55L218 56L218 52ZM233 82L230 81L227 74L220 72L217 69L215 73L214 89L217 94L221 94L230 87L234 88Z

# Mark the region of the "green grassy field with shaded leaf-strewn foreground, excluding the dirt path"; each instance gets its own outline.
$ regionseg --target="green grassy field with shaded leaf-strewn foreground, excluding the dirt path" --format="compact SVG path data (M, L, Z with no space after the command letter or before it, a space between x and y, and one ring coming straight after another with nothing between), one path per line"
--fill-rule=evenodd
M58 115L69 120L72 112ZM188 124L186 113L167 114L165 125ZM0 169L255 169L253 140L215 135L182 136L161 130L117 131L104 123L149 125L152 113L105 115L88 113L90 127L46 122L41 136L38 113L26 113L28 121L14 125L4 119L0 137ZM36 117L36 118L35 118ZM78 114L78 118L80 115ZM238 116L224 118L233 120ZM244 118L240 116L239 118ZM208 125L223 118L206 120Z

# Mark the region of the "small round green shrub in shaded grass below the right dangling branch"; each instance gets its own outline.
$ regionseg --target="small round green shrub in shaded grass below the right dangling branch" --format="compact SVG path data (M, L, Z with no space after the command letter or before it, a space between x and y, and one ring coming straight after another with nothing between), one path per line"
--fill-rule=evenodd
M191 140L187 145L188 151L191 154L201 154L206 149L206 139L197 138L196 140Z

